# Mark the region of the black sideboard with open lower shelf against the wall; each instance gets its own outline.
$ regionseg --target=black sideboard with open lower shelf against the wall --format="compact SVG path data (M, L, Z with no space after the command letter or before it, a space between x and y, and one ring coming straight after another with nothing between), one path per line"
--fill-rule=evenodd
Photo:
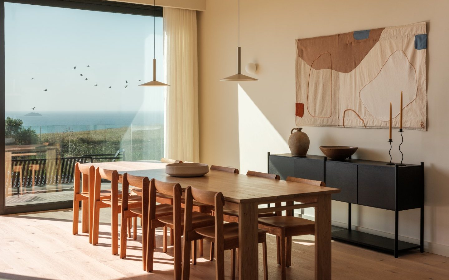
M286 177L324 181L339 188L333 200L348 203L348 228L333 228L334 240L370 247L394 254L424 249L424 164L387 165L385 162L325 156L268 153L268 172ZM351 229L351 204L395 211L394 239ZM399 211L420 208L420 244L398 240Z

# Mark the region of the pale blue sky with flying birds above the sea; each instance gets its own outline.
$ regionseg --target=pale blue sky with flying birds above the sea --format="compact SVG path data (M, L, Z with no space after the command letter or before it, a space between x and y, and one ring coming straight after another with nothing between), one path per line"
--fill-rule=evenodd
M161 17L4 6L5 111L163 110L163 87L138 86L153 79L154 27L164 81Z

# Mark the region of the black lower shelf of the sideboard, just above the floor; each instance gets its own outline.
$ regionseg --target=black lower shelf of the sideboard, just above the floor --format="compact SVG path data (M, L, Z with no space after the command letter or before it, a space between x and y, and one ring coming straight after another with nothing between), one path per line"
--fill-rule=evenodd
M368 247L374 250L379 250L394 254L394 242L395 240L388 237L382 237L370 233L363 233L357 230L349 230L347 228L332 227L332 239L349 244L357 244L360 246ZM405 241L399 241L398 251L407 251L413 249L420 249L419 244L409 243Z

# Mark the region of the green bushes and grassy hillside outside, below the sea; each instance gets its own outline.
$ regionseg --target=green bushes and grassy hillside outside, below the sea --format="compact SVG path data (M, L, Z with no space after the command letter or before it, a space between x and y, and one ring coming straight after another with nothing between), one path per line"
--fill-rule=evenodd
M151 128L151 129L150 129ZM20 119L5 119L5 138L14 145L46 145L55 150L57 157L81 155L115 154L125 150L126 160L160 159L163 157L163 128L160 126L97 129L39 134L36 130L23 127ZM132 138L132 139L131 139ZM36 158L46 158L43 152ZM28 158L28 157L24 157Z

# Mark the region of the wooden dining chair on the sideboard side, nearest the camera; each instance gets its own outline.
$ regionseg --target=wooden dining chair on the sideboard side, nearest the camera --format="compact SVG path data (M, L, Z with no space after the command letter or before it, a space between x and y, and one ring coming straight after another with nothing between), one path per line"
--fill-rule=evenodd
M302 178L287 177L286 181L315 185L317 187L326 186L324 182L306 180ZM313 199L300 199L298 202L313 202ZM286 205L293 205L293 201L286 202ZM276 203L280 206L280 202ZM286 279L286 267L291 266L291 237L315 233L315 223L312 220L293 216L293 210L277 212L274 217L259 218L259 227L276 236L277 264L282 267L281 279Z

